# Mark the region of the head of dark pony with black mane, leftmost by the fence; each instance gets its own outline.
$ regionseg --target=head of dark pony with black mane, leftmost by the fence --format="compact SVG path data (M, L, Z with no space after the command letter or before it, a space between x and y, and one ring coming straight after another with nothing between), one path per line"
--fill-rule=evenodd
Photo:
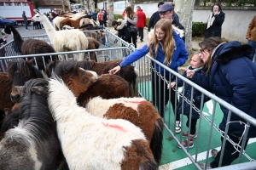
M7 72L12 85L9 87L10 99L17 103L20 101L20 92L15 86L23 86L26 81L34 78L43 78L43 74L33 65L34 59L9 62Z

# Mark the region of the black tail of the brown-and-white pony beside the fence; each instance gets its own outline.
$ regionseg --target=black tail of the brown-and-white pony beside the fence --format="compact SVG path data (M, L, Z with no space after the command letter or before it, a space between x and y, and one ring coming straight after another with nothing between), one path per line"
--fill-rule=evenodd
M150 149L154 155L154 160L159 164L162 156L162 141L163 141L164 122L162 118L158 118L154 122L154 134L150 142Z

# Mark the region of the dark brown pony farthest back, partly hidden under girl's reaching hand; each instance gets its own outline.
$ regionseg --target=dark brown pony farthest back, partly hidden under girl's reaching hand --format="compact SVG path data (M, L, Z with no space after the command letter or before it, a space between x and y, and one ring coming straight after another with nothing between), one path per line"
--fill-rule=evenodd
M96 63L94 61L79 61L79 67L82 67L84 70L96 71L98 75L108 74L108 71L113 69L113 67L119 65L122 62L122 59L107 61L103 63ZM132 65L127 65L122 68L118 73L119 77L123 77L125 81L129 83L131 88L131 97L138 95L137 88L137 70Z

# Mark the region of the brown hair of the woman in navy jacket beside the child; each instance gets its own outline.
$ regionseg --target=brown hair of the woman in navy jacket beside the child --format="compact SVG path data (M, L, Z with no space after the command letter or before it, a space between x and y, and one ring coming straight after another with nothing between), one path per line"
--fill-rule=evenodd
M198 45L201 48L201 51L207 50L210 54L209 58L207 59L207 73L211 70L213 61L211 59L212 51L218 47L220 43L223 41L220 39L220 37L209 37L204 39L202 42L200 42Z

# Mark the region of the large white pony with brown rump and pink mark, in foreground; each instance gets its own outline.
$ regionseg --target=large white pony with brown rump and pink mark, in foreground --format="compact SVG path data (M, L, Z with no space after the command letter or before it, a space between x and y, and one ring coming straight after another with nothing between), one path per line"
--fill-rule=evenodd
M49 79L48 103L70 169L158 169L139 127L91 116L56 76Z

